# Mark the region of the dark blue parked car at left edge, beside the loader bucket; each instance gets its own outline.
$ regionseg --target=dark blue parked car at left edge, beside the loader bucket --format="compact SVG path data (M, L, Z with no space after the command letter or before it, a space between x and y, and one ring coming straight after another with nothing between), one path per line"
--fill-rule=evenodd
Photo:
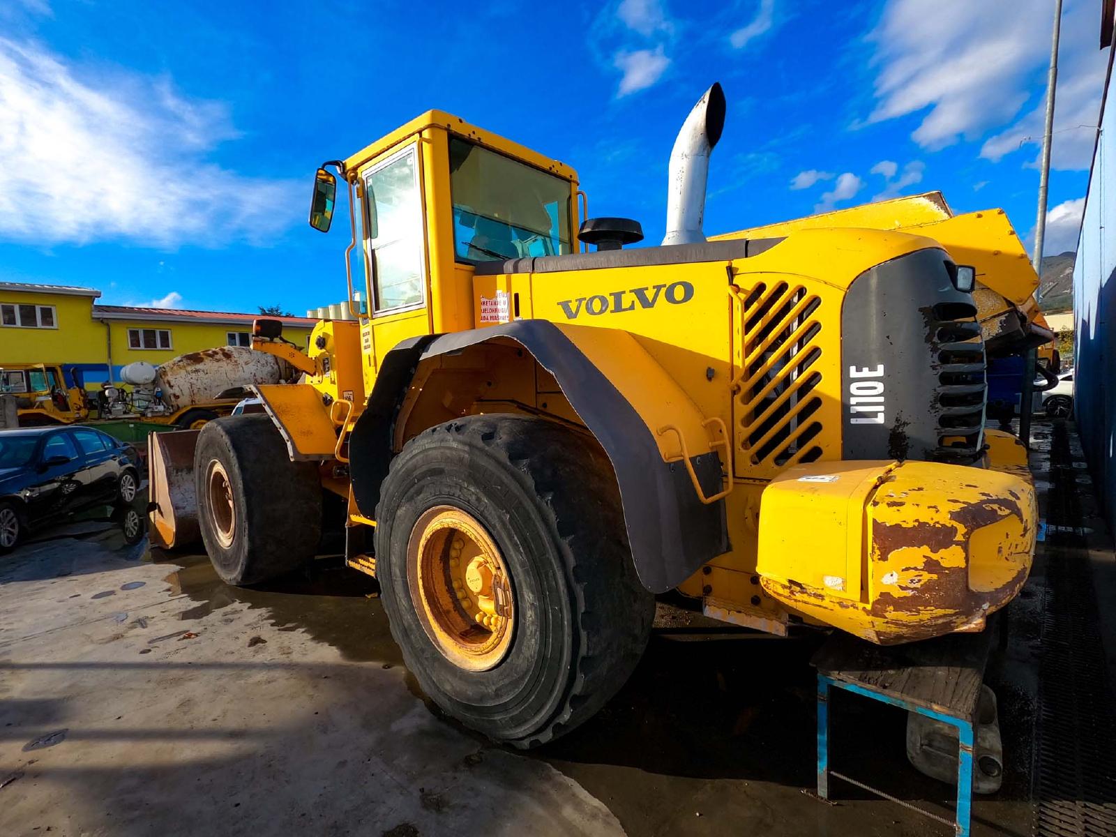
M33 529L92 506L131 503L140 489L132 445L93 427L0 431L0 554Z

